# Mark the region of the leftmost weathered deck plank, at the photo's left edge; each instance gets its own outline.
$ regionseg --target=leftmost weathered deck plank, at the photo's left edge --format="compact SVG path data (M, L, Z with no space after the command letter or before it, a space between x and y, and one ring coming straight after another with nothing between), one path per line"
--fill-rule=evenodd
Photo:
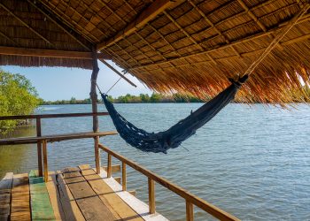
M8 220L10 216L12 181L12 172L7 172L0 181L0 220Z

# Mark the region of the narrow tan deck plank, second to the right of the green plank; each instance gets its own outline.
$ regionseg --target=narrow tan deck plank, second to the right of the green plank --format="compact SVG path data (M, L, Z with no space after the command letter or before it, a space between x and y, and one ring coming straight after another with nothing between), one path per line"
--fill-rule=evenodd
M61 206L64 210L66 220L85 220L81 214L79 206L74 201L74 196L71 194L69 187L66 185L66 181L64 180L61 171L57 171L56 181L59 193L59 201L61 202Z

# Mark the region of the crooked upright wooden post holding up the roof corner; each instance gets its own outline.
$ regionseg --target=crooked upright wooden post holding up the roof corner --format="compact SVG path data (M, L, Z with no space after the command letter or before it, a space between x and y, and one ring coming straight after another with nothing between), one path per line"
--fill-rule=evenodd
M97 113L97 92L96 92L96 84L97 84L97 76L99 72L98 62L97 62L97 49L93 48L92 51L93 57L93 71L91 73L91 86L90 86L90 98L91 98L91 107L93 113ZM98 117L93 116L93 131L96 133L99 131ZM100 174L100 152L98 148L99 137L94 138L95 142L95 163L96 163L96 171L97 174Z

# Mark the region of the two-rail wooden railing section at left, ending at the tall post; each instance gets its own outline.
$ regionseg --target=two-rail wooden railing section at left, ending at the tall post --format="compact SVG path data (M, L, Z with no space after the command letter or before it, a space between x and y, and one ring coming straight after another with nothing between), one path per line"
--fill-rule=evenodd
M0 145L10 145L10 144L21 144L21 143L34 143L36 142L37 147L37 162L38 162L38 171L39 176L43 176L43 139L40 139L42 136L42 129L41 129L41 119L43 118L76 118L76 117L93 117L93 116L106 116L109 115L108 112L87 112L87 113L60 113L60 114L34 114L34 115L15 115L15 116L1 116L0 120L10 120L10 119L35 119L36 125L36 137L30 138L12 138L12 139L1 139ZM98 137L95 133L89 133L86 137L82 137L81 133L75 133L73 137L73 133L71 134L63 134L66 136L70 135L71 139L81 139L81 138L88 138L88 137ZM53 135L52 135L53 136ZM54 136L55 138L55 136ZM59 140L61 138L58 137ZM45 139L48 140L48 139ZM51 138L52 140L52 138ZM64 140L64 139L62 139ZM65 139L66 140L66 139ZM56 141L56 140L53 140ZM95 144L96 145L96 144ZM97 156L97 155L96 155ZM99 157L99 156L97 156ZM47 160L47 159L46 159ZM98 159L96 159L98 160Z

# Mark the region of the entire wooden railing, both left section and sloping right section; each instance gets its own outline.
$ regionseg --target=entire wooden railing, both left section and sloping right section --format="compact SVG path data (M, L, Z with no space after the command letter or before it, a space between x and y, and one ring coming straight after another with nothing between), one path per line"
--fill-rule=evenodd
M71 117L89 117L89 116L104 116L108 115L107 112L98 113L66 113L66 114L45 114L45 115L27 115L27 116L5 116L0 117L0 120L10 120L10 119L27 119L33 118L36 120L36 137L22 137L22 138L9 138L1 139L0 145L12 145L21 143L37 143L37 156L38 156L38 169L39 175L44 177L44 180L48 180L48 156L47 156L47 143L53 141L66 141L72 139L81 138L95 138L95 145L98 149L102 149L107 153L107 177L112 177L112 156L120 160L121 162L121 186L123 191L127 191L127 174L126 166L130 166L136 171L141 172L148 179L148 193L149 193L149 212L154 214L156 212L155 203L155 182L159 183L161 186L166 187L168 190L180 195L186 202L186 220L192 221L194 219L194 205L205 210L213 217L220 220L239 220L236 217L230 215L229 213L217 208L213 204L206 202L205 200L199 198L194 194L186 191L182 187L178 187L174 183L167 179L160 177L158 174L149 171L139 164L129 160L128 158L121 156L118 153L113 152L101 143L96 143L98 137L117 134L116 132L88 132L88 133L66 133L66 134L56 134L56 135L42 135L41 133L41 119L42 118L71 118ZM96 152L95 148L95 161L100 162L99 150ZM42 161L43 160L43 161ZM99 169L98 169L99 168ZM100 173L100 163L97 166L97 173Z

